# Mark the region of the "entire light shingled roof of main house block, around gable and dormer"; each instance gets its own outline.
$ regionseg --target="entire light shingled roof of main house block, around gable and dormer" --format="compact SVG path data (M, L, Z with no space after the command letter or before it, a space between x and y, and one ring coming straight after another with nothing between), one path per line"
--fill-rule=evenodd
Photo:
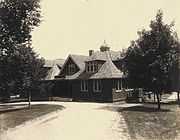
M115 65L114 61L118 61L122 58L121 52L115 51L96 51L91 56L84 55L74 55L70 54L62 66L62 71L66 66L69 59L71 59L79 68L79 71L73 75L65 75L62 79L72 80L72 79L107 79L107 78L121 78L123 77L123 72L121 72ZM85 62L102 60L104 64L96 73L87 73L85 71ZM61 79L61 78L60 78Z

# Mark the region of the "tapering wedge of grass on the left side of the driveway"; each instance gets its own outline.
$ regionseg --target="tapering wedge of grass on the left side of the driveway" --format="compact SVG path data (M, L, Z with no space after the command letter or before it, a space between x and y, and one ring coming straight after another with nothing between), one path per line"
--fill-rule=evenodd
M64 107L60 105L39 104L32 105L31 109L22 109L11 112L0 113L0 133L8 128L14 128L18 125L46 115L50 112L62 110Z

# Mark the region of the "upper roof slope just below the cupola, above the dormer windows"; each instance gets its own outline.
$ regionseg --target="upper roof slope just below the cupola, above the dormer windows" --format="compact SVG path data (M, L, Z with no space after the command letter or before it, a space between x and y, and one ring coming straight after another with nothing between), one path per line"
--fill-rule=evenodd
M120 51L108 51L110 54L110 57L112 59L112 61L116 61L121 59L121 52ZM103 60L106 61L106 53L105 52L101 52L101 51L96 51L94 52L91 56L89 56L89 58L87 59L87 61L93 61L93 60Z

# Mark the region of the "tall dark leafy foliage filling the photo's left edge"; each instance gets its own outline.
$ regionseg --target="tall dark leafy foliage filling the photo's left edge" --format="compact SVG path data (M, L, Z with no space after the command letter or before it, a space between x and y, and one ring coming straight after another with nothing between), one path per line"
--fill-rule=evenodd
M0 2L0 93L24 95L44 76L44 60L32 49L31 32L41 22L40 0Z

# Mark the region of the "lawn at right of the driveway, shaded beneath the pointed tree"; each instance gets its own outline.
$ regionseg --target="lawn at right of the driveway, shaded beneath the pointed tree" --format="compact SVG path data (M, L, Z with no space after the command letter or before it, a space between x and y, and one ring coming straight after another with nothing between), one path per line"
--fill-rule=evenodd
M119 109L133 140L174 140L180 133L180 107L175 104L145 104Z

